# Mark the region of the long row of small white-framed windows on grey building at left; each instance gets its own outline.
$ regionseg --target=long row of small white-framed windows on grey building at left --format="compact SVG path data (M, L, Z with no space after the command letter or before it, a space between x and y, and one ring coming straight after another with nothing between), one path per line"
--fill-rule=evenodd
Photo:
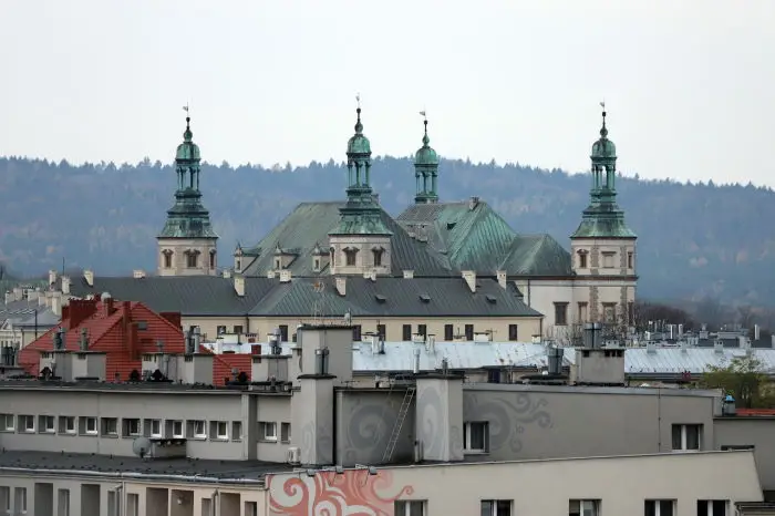
M209 423L209 429L208 429ZM290 423L259 421L259 440L290 443ZM146 437L241 441L240 421L141 420L138 417L91 417L74 415L0 414L0 432L60 435L101 435L103 437Z

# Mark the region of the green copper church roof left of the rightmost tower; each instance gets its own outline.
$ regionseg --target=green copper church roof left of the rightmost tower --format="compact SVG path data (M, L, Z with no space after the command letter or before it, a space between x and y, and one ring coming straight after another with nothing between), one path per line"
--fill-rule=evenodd
M519 235L487 203L417 204L396 218L410 231L425 233L431 247L457 270L494 275L570 276L569 252L549 235Z

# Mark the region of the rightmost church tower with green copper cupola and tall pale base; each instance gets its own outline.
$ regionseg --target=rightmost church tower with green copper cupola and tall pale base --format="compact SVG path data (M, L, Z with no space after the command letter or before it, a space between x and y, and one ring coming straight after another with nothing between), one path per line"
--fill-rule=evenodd
M589 206L571 235L574 272L589 280L577 288L578 321L631 323L636 297L637 235L617 204L617 147L608 138L606 104L600 137L592 144Z

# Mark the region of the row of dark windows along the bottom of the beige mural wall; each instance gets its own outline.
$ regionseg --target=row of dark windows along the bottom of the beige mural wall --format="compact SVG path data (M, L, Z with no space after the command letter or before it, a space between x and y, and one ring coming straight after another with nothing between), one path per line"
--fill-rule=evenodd
M568 516L600 516L602 500L600 499L569 499ZM479 503L482 516L515 516L514 500L510 499L483 499ZM730 500L726 499L699 499L696 500L696 514L702 516L727 516ZM427 500L412 499L397 500L393 505L393 514L396 516L427 516ZM643 516L674 516L678 514L678 500L675 499L645 499L643 500Z

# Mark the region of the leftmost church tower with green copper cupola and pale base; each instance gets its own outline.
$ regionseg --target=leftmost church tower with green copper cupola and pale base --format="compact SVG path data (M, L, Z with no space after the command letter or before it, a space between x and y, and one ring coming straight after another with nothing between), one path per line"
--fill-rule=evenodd
M157 236L159 276L216 274L218 235L210 224L209 211L202 204L200 161L190 117L186 116L183 143L175 153L175 204L167 210L167 221Z

